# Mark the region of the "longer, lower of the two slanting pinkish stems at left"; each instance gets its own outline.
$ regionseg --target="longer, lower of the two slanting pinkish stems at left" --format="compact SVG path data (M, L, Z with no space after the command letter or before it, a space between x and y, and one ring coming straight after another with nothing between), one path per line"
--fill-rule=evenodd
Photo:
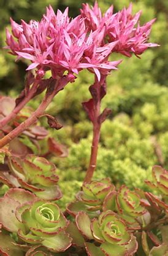
M31 126L34 122L37 121L37 119L40 117L40 115L44 114L45 109L47 109L48 105L51 103L54 96L58 93L58 91L63 90L64 86L72 80L72 76L59 78L56 80L56 83L52 86L49 86L47 88L47 92L45 94L45 97L42 101L42 103L39 105L39 107L34 111L34 113L29 117L25 122L21 123L17 128L12 130L9 134L4 136L0 140L0 149L1 147L4 147L4 145L8 144L12 139L16 138L18 135L20 135L23 131L25 131L29 126Z

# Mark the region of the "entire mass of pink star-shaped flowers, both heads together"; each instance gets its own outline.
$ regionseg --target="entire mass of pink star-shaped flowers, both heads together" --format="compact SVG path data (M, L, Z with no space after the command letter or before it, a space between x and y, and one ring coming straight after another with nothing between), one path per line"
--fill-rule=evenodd
M50 69L56 78L65 71L78 74L86 68L100 80L121 62L108 60L112 52L139 55L156 46L147 43L154 20L135 28L139 17L140 12L131 15L131 6L116 14L110 7L102 16L96 2L93 8L83 4L81 15L71 20L68 8L55 14L50 6L40 21L21 20L19 25L11 18L12 34L6 30L6 48L17 55L17 60L30 60L27 70L36 68L37 74Z

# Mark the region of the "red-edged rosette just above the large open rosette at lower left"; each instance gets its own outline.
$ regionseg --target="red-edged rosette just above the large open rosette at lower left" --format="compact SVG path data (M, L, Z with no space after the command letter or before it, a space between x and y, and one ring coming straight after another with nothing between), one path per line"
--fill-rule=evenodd
M9 157L9 168L13 176L0 177L10 187L23 187L45 200L58 200L62 194L57 184L56 167L43 157L27 155L24 160Z

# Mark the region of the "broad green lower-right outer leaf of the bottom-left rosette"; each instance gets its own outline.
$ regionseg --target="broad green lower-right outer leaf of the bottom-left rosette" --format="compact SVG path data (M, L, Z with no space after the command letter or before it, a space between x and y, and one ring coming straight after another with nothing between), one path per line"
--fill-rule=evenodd
M58 235L51 238L45 238L42 244L53 252L64 252L71 246L72 238L65 232L60 232Z

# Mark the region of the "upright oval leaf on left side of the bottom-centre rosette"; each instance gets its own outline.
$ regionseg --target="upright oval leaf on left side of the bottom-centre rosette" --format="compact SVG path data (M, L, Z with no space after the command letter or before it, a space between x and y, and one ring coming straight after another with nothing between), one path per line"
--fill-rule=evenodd
M91 233L91 220L90 217L85 212L78 212L75 217L75 222L77 224L78 230L88 239L93 239Z

